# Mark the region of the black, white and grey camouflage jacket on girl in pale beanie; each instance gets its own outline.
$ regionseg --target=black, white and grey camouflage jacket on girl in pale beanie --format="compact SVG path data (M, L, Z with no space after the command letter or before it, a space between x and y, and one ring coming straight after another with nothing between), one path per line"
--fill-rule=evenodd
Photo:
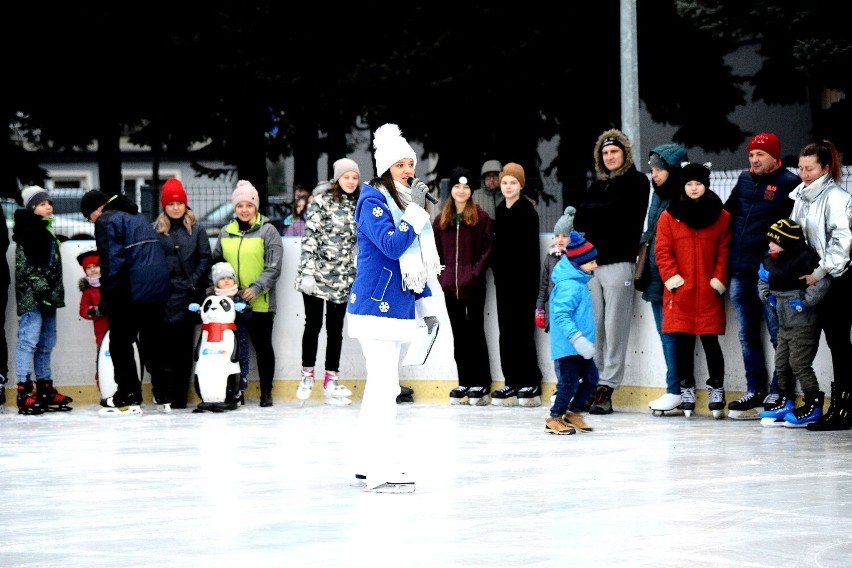
M300 290L302 276L311 275L317 282L314 296L346 303L355 280L355 199L344 195L337 201L330 192L317 195L308 205L305 219L296 290Z

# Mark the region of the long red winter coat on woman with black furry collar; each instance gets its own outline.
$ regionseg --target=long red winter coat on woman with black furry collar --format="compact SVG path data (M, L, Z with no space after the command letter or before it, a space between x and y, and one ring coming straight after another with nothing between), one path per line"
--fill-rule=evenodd
M725 334L725 298L710 280L716 278L727 290L730 240L731 214L725 210L701 229L675 218L669 210L660 216L656 248L660 276L663 283L678 274L684 280L674 291L668 287L663 291L664 332Z

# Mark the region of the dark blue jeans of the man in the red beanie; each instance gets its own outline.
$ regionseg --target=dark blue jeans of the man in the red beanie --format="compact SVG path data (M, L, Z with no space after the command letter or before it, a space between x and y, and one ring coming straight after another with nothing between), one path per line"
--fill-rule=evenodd
M760 336L761 322L766 322L772 346L778 344L778 316L771 307L764 305L757 292L757 270L754 275L735 274L731 277L731 305L739 325L740 347L743 351L743 366L746 372L748 392L766 392L766 358ZM773 356L772 368L775 368ZM773 371L769 392L778 392L778 375Z

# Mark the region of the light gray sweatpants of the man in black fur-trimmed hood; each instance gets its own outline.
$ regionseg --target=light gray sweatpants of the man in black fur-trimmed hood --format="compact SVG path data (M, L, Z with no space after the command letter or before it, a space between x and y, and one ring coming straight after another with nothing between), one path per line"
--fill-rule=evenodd
M595 365L600 383L613 389L624 379L627 340L633 319L633 271L636 263L598 266L589 280L595 307Z

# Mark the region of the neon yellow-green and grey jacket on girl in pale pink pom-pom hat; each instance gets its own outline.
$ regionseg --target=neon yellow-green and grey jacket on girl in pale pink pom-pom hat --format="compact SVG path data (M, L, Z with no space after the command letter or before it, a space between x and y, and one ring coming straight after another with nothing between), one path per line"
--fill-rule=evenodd
M234 267L237 286L252 288L256 294L251 302L253 312L275 312L275 284L281 276L284 245L278 229L265 215L258 214L243 234L236 219L219 231L213 248L213 260L225 259Z

